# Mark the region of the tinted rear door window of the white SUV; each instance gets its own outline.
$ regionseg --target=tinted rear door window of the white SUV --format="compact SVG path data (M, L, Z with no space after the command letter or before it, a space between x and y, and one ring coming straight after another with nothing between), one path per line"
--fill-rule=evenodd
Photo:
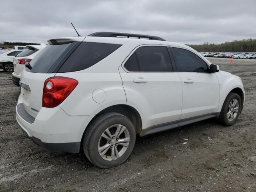
M138 48L126 61L124 67L129 71L172 71L172 64L168 50L166 47L162 46L144 46Z

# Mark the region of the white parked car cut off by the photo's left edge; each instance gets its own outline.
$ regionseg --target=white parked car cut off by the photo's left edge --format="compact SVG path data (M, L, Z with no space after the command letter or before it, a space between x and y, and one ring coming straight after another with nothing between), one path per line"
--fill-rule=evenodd
M1 50L0 69L5 70L6 72L13 72L14 70L13 59L23 51L24 50L10 50L10 51Z

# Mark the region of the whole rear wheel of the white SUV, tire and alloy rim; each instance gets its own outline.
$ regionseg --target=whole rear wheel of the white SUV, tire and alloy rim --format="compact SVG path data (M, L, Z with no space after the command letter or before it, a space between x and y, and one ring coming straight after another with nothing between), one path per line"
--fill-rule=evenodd
M119 136L118 128L123 130ZM130 119L119 113L108 112L95 118L86 128L83 150L92 164L99 168L110 168L118 166L130 156L135 140L135 128Z

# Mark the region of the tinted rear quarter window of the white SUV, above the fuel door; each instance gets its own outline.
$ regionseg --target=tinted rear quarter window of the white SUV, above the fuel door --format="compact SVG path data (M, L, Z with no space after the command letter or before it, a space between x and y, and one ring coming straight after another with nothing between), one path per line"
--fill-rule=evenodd
M61 66L59 73L79 71L98 63L121 45L82 42Z

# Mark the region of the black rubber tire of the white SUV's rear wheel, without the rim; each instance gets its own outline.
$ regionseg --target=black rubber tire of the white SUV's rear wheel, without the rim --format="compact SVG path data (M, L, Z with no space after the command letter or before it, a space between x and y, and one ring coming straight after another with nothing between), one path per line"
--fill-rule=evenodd
M114 125L114 124L122 124L124 125L130 134L130 142L126 152L118 159L113 161L104 160L99 152L98 152L98 141L102 133L106 130L106 128ZM94 132L88 138L87 146L84 146L84 150L87 150L87 154L89 156L89 160L100 168L109 168L113 166L117 166L124 162L131 154L134 144L136 140L136 133L132 122L123 115L115 115L110 116L109 118L104 119L98 126L94 128Z

